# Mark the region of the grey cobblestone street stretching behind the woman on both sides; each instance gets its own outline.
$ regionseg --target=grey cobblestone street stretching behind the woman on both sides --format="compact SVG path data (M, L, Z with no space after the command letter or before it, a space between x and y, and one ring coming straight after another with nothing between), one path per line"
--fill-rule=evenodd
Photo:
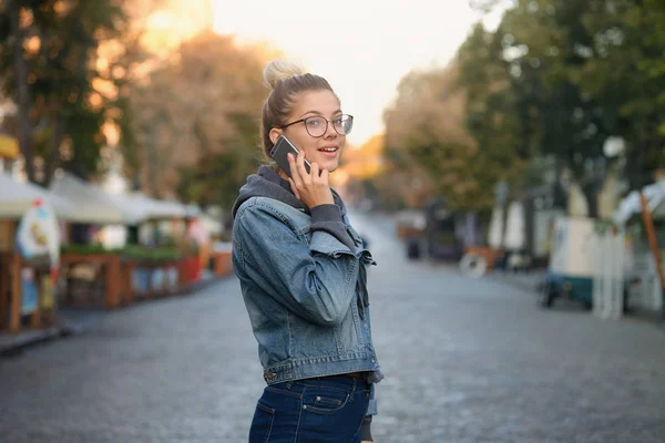
M354 215L370 270L377 443L665 442L665 331L407 261ZM246 442L264 388L239 286L103 316L0 360L3 442Z

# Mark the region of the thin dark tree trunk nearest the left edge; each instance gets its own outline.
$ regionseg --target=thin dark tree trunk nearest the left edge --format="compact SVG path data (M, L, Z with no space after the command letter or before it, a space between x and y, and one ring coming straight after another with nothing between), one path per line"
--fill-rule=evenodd
M19 119L19 147L25 159L25 174L28 179L34 182L34 158L32 147L32 124L30 122L30 90L28 86L28 64L23 58L23 42L25 35L21 29L21 6L19 0L8 2L8 10L13 34L13 68L18 93L18 119Z

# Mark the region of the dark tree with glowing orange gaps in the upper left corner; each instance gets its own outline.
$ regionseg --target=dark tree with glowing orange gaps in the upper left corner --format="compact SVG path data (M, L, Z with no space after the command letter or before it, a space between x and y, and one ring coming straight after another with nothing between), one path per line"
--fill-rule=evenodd
M60 166L79 176L94 173L116 87L112 64L100 66L98 50L123 31L122 3L7 0L0 24L0 78L18 106L29 179L48 184Z

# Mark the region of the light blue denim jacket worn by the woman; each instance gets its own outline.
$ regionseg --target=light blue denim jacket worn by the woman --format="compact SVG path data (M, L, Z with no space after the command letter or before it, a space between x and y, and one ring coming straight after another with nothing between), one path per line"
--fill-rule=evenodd
M268 384L357 371L381 378L366 285L375 261L348 216L341 219L355 245L313 229L309 212L275 198L253 196L237 207L233 267Z

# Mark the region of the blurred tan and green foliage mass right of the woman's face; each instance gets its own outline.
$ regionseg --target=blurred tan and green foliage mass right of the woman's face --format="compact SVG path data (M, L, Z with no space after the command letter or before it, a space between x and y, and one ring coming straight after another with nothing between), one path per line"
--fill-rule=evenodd
M477 27L448 69L405 78L386 112L391 166L453 210L491 208L494 184L518 183L529 155L510 78L495 60L493 35Z

